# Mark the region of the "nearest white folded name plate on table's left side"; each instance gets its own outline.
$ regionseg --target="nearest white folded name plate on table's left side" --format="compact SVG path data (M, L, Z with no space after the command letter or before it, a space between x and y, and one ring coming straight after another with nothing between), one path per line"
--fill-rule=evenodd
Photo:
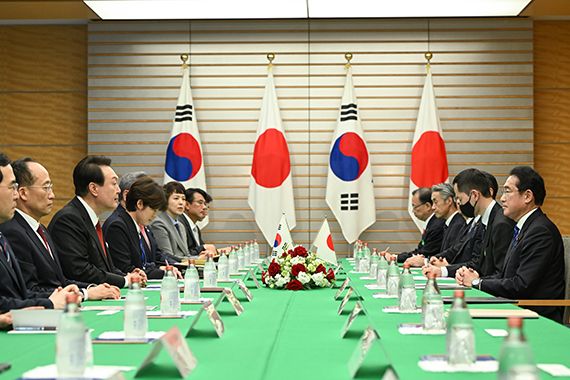
M178 327L174 326L153 343L152 349L137 368L135 377L139 377L141 372L144 372L144 369L154 362L163 348L174 362L181 378L186 378L196 368L198 360L190 351Z

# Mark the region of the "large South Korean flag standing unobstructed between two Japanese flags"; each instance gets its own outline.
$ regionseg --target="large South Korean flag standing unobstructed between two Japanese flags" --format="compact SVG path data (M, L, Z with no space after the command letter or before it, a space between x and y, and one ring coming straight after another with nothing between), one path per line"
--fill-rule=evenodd
M350 67L330 147L326 201L348 243L376 221L372 168Z

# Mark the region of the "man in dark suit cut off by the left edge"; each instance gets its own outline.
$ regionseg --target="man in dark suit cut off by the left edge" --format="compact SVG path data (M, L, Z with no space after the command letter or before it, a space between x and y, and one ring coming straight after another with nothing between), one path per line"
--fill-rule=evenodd
M10 160L0 153L0 223L12 219L17 199L18 183ZM10 243L0 233L0 314L29 306L62 309L65 306L65 297L73 291L73 287L58 288L51 294L28 291ZM3 319L9 321L9 316Z

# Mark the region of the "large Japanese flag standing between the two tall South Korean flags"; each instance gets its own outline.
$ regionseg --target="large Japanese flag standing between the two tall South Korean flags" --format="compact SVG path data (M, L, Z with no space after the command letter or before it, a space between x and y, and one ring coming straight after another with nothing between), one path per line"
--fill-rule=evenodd
M261 104L251 163L248 203L255 214L259 229L271 246L275 238L275 226L279 224L283 214L287 215L287 223L291 229L297 224L289 147L281 125L271 71L267 75Z

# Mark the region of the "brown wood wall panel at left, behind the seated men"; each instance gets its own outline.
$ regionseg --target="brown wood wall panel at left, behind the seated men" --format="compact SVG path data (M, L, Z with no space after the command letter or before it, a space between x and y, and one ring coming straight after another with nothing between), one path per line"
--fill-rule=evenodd
M85 25L0 26L0 151L46 166L56 210L87 153L86 36Z

